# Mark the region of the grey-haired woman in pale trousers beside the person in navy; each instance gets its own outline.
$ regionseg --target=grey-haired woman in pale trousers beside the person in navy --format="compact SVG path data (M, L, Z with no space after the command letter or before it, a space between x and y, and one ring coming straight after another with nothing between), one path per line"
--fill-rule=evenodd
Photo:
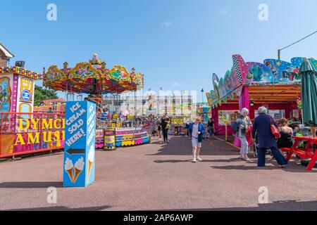
M248 117L249 110L247 108L242 108L240 115L237 117L237 135L241 141L240 148L240 160L246 160L250 162L248 158L249 142L247 141L247 132L249 132L249 126L252 125L250 118Z

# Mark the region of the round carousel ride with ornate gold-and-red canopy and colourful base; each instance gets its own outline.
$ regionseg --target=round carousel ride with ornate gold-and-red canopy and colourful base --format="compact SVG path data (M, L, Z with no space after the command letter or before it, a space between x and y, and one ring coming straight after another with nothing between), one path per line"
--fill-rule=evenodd
M137 91L144 86L144 76L132 68L130 72L122 65L106 68L106 63L94 54L92 60L77 63L68 68L68 63L59 69L52 65L43 75L44 86L56 91L66 91L66 101L84 100L97 105L97 148L113 149L118 146L134 146L149 143L147 127L135 120L134 115L109 113L102 108L104 94L122 94ZM106 144L105 144L106 143Z

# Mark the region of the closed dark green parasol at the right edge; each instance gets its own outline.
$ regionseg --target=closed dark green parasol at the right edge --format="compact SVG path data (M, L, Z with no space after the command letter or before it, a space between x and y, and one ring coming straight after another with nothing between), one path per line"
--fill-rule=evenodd
M302 75L303 122L309 126L317 125L317 78L316 70L307 58L299 69Z

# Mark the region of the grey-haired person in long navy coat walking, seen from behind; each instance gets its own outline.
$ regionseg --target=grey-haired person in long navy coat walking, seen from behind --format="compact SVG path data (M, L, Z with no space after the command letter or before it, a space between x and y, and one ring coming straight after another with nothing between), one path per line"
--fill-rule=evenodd
M268 115L268 109L264 106L259 108L258 113L259 116L254 120L252 127L252 139L257 136L259 140L258 167L266 166L266 148L270 148L278 165L284 168L288 162L282 156L280 150L278 150L276 138L271 131L271 124L273 123L275 127L278 127L278 124L273 120L271 115Z

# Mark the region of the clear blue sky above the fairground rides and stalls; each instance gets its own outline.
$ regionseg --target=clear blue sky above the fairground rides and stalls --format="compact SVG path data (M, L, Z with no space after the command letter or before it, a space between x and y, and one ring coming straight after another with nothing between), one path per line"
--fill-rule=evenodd
M46 20L50 3L57 21ZM268 5L268 21L259 20L259 4ZM209 91L212 73L225 75L232 54L277 58L277 49L317 30L316 8L316 0L1 1L0 41L13 62L36 72L98 53L108 68L144 73L145 89ZM282 51L282 60L316 55L317 34Z

